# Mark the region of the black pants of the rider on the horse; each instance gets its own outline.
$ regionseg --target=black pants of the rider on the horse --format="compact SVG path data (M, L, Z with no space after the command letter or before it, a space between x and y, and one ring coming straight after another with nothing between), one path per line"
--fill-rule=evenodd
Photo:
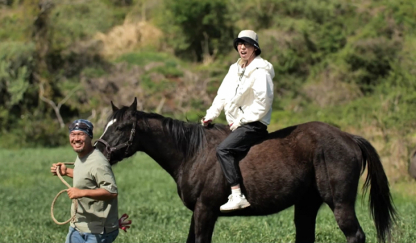
M261 141L267 134L267 126L263 123L247 123L235 129L218 145L216 155L230 186L236 186L241 181L239 161L254 143Z

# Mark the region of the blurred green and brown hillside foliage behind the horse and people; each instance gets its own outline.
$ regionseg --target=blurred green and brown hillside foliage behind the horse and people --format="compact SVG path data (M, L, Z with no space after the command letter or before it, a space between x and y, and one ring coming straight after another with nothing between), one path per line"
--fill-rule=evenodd
M392 181L415 148L412 0L0 1L0 23L1 147L63 145L78 117L99 134L110 100L197 120L232 40L254 29L276 72L270 131L321 120L361 134Z

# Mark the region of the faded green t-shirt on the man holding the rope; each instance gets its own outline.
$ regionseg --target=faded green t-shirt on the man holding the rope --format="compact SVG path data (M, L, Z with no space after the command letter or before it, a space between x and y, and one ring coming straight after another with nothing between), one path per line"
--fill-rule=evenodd
M73 187L79 189L104 188L118 193L116 180L110 163L99 150L93 150L83 158L76 158L73 168ZM71 215L75 212L71 206ZM110 233L119 228L117 197L107 201L98 201L83 197L78 199L78 210L71 226L80 232L102 234L104 229Z

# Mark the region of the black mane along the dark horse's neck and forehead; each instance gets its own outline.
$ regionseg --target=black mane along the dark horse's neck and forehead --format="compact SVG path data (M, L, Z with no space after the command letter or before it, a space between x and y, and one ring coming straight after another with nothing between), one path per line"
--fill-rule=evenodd
M123 120L127 111L128 107L120 108L108 118L108 121L113 119ZM209 131L227 132L227 127L223 124L214 124L209 127L203 127L200 123L175 120L156 113L134 111L133 114L137 116L139 120L143 120L145 125L144 129L148 131L150 131L151 119L161 121L163 131L171 136L173 142L177 145L177 149L180 150L186 158L190 158L197 154L205 147L207 144L207 133Z

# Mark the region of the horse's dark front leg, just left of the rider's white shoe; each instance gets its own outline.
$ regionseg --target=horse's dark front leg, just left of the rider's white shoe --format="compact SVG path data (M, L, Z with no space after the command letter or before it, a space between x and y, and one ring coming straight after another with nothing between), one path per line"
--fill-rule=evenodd
M195 242L211 242L215 222L218 219L218 211L218 208L209 208L202 203L196 204L192 220L195 225ZM190 235L191 231L189 231Z

